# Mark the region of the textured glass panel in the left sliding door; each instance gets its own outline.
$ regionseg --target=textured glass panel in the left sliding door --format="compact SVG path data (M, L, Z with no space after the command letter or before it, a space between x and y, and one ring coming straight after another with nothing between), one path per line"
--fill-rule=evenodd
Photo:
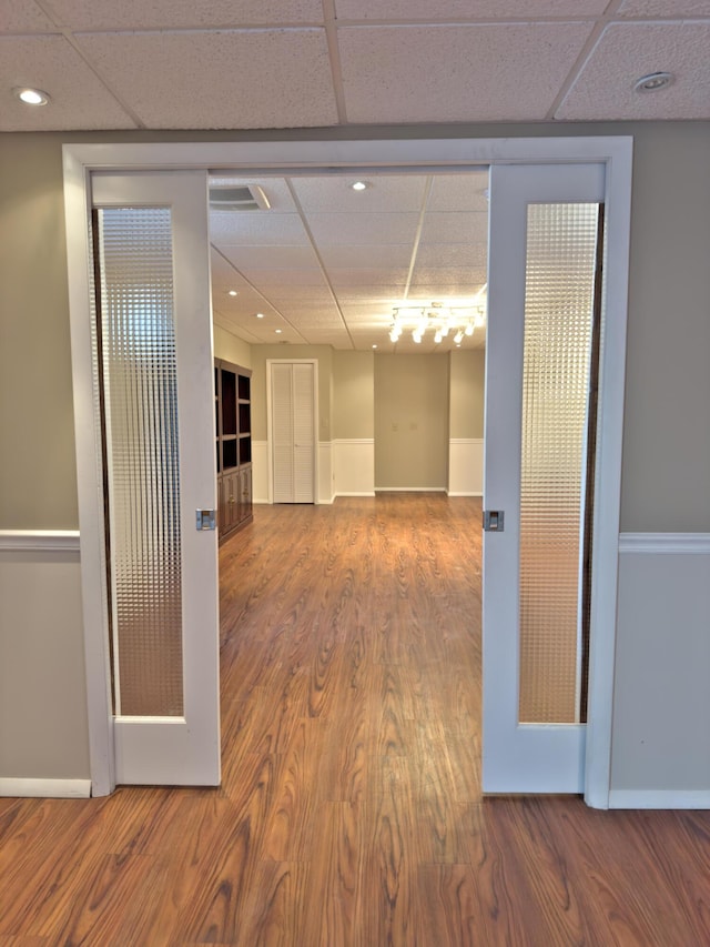
M182 588L170 210L99 211L116 713L180 716Z

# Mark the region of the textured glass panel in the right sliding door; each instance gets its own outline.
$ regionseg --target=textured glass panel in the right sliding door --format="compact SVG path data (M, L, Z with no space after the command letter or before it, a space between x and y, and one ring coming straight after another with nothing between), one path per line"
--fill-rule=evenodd
M521 723L579 719L597 204L528 206L520 484Z

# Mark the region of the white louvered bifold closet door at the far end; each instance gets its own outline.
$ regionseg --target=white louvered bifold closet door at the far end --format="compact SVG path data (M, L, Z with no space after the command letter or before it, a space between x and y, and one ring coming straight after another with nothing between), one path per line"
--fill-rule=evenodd
M315 500L315 364L268 363L274 503Z

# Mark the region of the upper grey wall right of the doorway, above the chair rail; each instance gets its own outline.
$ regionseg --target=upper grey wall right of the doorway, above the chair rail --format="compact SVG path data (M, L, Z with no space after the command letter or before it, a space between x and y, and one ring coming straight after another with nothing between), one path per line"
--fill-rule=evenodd
M633 161L621 530L710 532L710 122Z

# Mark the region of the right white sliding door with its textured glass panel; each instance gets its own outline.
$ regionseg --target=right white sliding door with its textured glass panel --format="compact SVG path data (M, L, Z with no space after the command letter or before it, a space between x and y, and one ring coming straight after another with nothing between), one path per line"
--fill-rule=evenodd
M602 164L490 177L486 793L581 793L586 446Z

